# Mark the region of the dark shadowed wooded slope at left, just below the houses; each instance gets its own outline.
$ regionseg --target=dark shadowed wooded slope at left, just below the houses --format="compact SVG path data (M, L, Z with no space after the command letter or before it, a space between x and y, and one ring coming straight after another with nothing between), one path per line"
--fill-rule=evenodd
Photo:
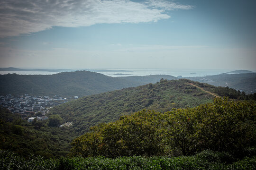
M25 157L30 154L46 158L67 155L73 140L70 129L47 125L47 121L28 123L0 108L0 149L9 149Z

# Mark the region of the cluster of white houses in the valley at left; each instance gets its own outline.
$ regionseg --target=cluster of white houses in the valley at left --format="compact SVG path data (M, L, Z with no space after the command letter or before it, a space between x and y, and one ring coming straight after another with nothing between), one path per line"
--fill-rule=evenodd
M49 108L64 102L67 102L66 98L56 95L53 98L48 96L29 96L28 94L22 96L0 95L0 106L10 110L12 113L18 113L22 119L27 119L29 122L36 118L28 118L31 113L40 111L42 116L38 116L37 120L45 120L48 119L45 114L49 111Z

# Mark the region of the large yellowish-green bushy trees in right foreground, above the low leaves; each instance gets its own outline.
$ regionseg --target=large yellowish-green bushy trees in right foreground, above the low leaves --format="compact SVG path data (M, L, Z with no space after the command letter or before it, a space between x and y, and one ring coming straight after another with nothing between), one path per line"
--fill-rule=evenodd
M73 155L192 155L206 149L241 156L256 146L256 104L216 98L165 113L142 110L100 124L73 141Z

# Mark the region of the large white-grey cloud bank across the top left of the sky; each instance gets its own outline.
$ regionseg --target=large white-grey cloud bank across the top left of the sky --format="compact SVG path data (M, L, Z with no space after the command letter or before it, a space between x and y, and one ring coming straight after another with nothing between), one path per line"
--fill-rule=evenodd
M53 26L157 22L168 10L192 6L167 0L2 0L0 37L30 34Z

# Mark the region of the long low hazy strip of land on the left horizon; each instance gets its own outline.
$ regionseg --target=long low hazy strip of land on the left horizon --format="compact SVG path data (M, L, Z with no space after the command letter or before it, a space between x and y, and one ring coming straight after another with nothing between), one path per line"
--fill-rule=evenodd
M48 71L48 72L71 72L71 71L91 71L91 72L132 72L129 70L109 70L109 69L44 69L44 68L0 68L0 71Z

